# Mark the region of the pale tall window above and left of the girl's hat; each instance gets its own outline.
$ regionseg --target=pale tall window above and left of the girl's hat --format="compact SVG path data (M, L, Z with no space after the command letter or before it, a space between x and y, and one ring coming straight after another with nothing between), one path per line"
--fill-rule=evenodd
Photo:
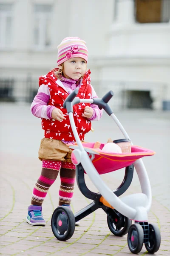
M37 49L51 45L51 10L49 5L34 6L34 46Z

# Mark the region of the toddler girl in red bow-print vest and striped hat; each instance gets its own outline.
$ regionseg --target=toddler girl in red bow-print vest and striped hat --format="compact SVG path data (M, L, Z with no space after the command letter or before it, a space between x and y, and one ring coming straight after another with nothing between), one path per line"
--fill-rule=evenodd
M74 192L75 166L71 162L71 149L67 144L75 142L67 110L63 102L75 89L80 99L97 98L91 86L90 70L86 72L88 49L85 41L77 37L62 40L58 48L58 68L40 76L39 90L31 104L31 112L42 119L44 138L41 140L39 159L42 161L41 175L35 183L28 207L26 221L31 225L45 225L42 203L48 189L59 173L59 206L70 207ZM91 120L99 120L102 111L97 105L80 103L74 105L74 121L80 140L91 130Z

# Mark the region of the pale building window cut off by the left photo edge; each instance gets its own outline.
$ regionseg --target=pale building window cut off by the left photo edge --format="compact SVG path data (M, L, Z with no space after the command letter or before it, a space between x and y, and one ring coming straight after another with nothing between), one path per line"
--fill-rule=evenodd
M0 47L12 44L12 4L0 3Z

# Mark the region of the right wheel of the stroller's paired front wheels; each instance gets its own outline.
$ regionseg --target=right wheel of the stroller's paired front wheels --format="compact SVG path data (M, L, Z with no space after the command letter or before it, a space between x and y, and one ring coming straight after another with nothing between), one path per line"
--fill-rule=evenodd
M148 253L156 253L161 244L161 234L155 224L149 224L149 241L144 244Z

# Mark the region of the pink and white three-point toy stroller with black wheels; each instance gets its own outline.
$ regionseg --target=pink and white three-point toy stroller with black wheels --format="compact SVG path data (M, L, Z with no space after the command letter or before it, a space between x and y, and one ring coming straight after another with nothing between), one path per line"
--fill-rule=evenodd
M77 94L78 90L75 89L65 99L63 107L67 108L71 128L77 142L77 145L70 145L70 148L74 149L71 160L76 165L77 184L82 194L92 199L93 202L75 214L69 207L57 207L51 218L54 236L62 241L70 239L74 234L75 222L96 209L102 208L107 214L108 227L115 236L124 236L128 233L127 243L132 253L139 253L143 243L149 253L155 253L159 250L161 236L159 228L155 224L148 224L147 222L147 212L151 207L152 194L146 169L142 159L140 159L144 156L153 155L154 152L133 146L131 143L131 153L107 154L101 150L104 144L101 144L99 150L93 148L94 143L82 144L74 123L73 105L83 102L93 103L98 105L100 109L103 108L116 122L125 139L130 140L130 138L108 105L113 91L109 91L102 99L79 99L76 97ZM117 189L111 191L100 174L113 172L123 167L126 167L124 180ZM133 179L133 167L135 167L139 177L142 193L119 198L130 186ZM98 189L98 193L91 192L86 186L85 172ZM131 224L132 220L135 221L135 224Z

